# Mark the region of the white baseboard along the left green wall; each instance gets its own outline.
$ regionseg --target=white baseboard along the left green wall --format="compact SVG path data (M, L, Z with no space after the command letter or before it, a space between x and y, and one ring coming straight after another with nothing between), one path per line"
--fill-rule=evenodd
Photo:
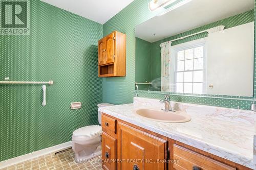
M20 162L27 161L29 159L36 158L38 156L46 155L46 154L49 154L49 153L52 153L52 152L55 152L55 151L58 151L58 150L61 150L61 149L65 149L65 148L68 148L68 147L71 147L71 141L68 141L66 143L61 143L61 144L55 145L53 147L42 149L42 150L39 150L39 151L34 151L34 152L26 154L26 155L11 158L11 159L0 162L0 169L5 168L7 166L17 164L17 163L20 163Z

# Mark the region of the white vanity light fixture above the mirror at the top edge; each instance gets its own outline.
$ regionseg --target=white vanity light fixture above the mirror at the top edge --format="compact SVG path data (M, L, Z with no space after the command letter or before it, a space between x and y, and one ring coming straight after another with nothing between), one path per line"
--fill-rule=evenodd
M148 9L150 9L151 12L162 9L163 12L157 15L161 16L189 3L190 1L192 0L152 0L150 3L148 3Z

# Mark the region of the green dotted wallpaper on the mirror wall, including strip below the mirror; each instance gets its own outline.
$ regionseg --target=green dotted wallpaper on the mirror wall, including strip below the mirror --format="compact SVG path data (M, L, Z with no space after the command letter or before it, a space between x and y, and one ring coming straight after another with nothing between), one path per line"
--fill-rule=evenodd
M156 15L156 13L151 13L148 10L148 2L150 2L150 0L135 0L133 3L124 8L122 11L120 11L117 15L115 15L103 25L103 35L107 35L113 30L118 30L125 33L127 36L126 77L103 79L103 102L109 102L113 104L125 104L133 102L132 91L134 91L135 89L135 27ZM254 96L256 96L255 81L256 78L254 78ZM156 94L147 91L138 91L138 95L147 98L162 98L162 93ZM172 95L172 100L178 102L222 106L229 108L237 108L239 106L241 109L250 109L250 104L252 103L252 98L245 98L245 100L231 100L218 97L239 98L239 96L225 95Z

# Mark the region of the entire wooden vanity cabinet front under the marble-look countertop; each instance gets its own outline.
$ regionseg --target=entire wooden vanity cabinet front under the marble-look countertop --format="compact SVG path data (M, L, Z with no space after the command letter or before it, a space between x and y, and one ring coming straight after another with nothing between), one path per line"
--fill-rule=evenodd
M102 113L104 170L252 170Z

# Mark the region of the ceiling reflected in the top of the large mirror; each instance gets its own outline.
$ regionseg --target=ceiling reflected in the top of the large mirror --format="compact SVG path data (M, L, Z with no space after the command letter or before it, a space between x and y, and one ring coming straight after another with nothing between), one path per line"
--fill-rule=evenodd
M155 42L253 8L254 0L193 0L137 26L136 37Z

